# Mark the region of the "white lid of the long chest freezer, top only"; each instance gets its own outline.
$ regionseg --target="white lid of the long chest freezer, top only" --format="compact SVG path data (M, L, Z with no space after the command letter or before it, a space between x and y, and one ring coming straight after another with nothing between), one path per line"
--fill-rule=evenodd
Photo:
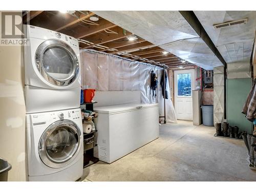
M106 114L113 114L113 113L122 113L127 111L134 111L139 109L146 109L146 108L155 108L158 107L158 103L153 104L143 104L143 103L133 103L133 104L118 104L118 105L110 105L110 106L100 106L94 108L94 111L97 113L106 113Z

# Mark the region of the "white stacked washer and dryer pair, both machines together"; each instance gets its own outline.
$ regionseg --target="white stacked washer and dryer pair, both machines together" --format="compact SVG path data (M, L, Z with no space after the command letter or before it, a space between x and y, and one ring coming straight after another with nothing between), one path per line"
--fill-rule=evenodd
M29 181L75 181L83 170L77 39L24 25Z

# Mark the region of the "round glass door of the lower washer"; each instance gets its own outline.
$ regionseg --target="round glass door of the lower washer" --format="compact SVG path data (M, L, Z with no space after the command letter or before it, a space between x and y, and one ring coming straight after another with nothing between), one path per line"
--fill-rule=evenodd
M42 134L38 152L47 166L60 168L68 165L77 155L81 132L70 120L59 120L51 124Z

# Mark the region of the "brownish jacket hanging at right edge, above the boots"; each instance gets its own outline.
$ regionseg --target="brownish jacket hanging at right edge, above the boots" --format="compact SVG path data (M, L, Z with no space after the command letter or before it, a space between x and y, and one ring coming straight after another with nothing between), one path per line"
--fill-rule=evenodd
M256 87L255 87L255 80L253 82L253 86L251 91L249 92L246 102L244 104L242 113L246 115L246 118L249 121L253 121L256 119Z

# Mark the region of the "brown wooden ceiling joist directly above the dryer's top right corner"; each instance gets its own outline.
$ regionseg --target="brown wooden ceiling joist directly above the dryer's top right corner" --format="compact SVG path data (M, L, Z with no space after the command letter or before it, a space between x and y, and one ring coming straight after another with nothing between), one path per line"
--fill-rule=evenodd
M86 25L86 26L78 25L77 27L74 27L72 29L68 29L68 28L62 29L61 33L80 39L80 38L98 33L100 31L116 27L115 24L110 23L108 20L105 20L102 18L99 19L98 24L99 25Z

